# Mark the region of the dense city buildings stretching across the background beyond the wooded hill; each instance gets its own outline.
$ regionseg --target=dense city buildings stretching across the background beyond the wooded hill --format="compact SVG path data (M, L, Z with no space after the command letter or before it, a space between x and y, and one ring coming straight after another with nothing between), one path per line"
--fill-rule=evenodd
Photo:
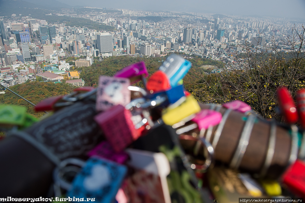
M9 18L0 17L0 82L8 86L20 84L35 78L34 75L43 81L76 79L70 84L83 85L79 73L70 71L72 66L88 67L94 60L120 55L160 57L180 52L222 61L230 67L235 66L236 54L246 49L291 52L280 41L292 34L292 27L298 30L302 26L289 18L83 9L85 12L74 9L50 12L52 17L84 18L91 20L92 25L101 23L109 27L49 22L44 16L32 18L16 13ZM80 58L70 64L62 60L71 56Z

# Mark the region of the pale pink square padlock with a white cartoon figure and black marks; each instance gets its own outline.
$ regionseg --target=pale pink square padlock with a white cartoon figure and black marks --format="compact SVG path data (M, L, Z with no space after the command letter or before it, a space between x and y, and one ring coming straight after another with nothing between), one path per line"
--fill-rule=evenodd
M115 105L127 105L131 98L129 85L128 78L100 76L96 110L105 111Z

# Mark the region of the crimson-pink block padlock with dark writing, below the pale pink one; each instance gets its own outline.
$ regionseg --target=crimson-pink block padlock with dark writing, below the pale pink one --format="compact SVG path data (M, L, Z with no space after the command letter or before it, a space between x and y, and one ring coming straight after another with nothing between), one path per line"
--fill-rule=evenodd
M140 136L140 129L147 119L136 125L132 122L132 114L122 105L116 105L94 117L104 132L114 151L120 152Z

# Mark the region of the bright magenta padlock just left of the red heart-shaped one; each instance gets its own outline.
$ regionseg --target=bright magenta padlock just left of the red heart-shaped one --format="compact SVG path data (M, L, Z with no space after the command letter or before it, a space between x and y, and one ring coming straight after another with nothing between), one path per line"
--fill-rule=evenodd
M148 72L144 61L131 64L130 66L123 68L114 75L114 77L129 78L131 84L138 82L142 79L142 77L146 78L147 76Z

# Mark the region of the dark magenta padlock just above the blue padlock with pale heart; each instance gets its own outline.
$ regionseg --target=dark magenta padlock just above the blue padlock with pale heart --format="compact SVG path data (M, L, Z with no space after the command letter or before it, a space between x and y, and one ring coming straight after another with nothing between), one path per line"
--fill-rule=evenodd
M126 152L115 152L110 143L107 141L101 142L95 148L89 151L88 156L98 156L100 158L106 158L120 164L124 164L128 159L128 154Z

